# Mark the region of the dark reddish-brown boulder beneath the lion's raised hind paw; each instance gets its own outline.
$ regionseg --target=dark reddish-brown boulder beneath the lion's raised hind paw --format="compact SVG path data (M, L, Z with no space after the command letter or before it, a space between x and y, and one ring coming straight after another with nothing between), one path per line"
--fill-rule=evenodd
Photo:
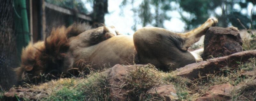
M235 27L210 27L204 37L204 60L242 51L242 39Z

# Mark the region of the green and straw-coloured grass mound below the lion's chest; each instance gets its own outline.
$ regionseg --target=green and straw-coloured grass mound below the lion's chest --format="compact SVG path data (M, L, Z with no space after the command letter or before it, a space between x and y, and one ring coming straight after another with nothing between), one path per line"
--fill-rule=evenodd
M88 78L72 78L71 82L64 82L61 89L52 92L45 101L108 101L109 88L106 76L93 73ZM74 82L77 82L76 84Z

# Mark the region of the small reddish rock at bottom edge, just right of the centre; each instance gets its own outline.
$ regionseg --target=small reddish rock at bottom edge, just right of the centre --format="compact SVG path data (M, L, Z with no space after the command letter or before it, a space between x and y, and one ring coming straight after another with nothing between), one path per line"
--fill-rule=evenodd
M154 97L163 98L164 101L175 101L178 99L176 90L172 84L152 88L151 90L148 90L148 94L153 95Z

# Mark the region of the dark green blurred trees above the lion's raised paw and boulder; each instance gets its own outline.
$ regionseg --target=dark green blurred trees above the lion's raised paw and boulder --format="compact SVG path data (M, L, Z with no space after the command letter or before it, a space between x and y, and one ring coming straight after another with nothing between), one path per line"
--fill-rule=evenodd
M217 17L219 19L218 26L221 27L234 25L239 29L243 29L241 23L247 28L250 27L250 23L251 25L255 25L253 24L255 21L251 22L250 20L251 16L242 13L242 10L246 10L249 3L254 3L253 0L176 0L175 2L180 4L180 7L183 11L187 11L195 16L192 16L193 18L186 18L181 14L182 20L188 24L187 29L195 28L210 16ZM235 9L235 5L241 7L241 9ZM215 12L215 10L218 8L221 9L220 15ZM241 23L237 19L239 19Z

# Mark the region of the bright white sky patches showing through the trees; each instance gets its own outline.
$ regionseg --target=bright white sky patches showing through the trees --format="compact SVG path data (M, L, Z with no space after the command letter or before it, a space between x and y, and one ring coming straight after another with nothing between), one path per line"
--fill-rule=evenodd
M85 7L88 11L92 11L92 5L90 3L86 3L87 0L82 0L85 4ZM105 25L107 26L115 26L116 29L123 33L123 34L130 34L132 35L134 31L132 30L132 25L134 25L134 18L133 18L133 11L132 5L128 4L123 8L123 14L120 14L121 9L119 5L122 3L123 0L108 0L108 14L105 15ZM135 0L134 6L137 7L142 2L142 0ZM174 2L171 3L172 7L179 7L179 5L175 4ZM253 4L249 4L247 7L247 10L242 10L242 13L244 14L251 14L251 9L254 8L254 11L256 7L253 7ZM241 10L240 5L234 5L234 9ZM248 12L249 11L249 12ZM151 11L154 12L154 11ZM221 14L221 8L217 8L215 12L218 14ZM185 30L185 23L180 20L181 16L178 11L168 11L168 16L171 17L170 20L164 20L164 27L167 30L173 31L173 32L184 32ZM183 12L182 15L190 16L188 13ZM139 19L139 18L138 18ZM142 28L142 25L137 25L137 29Z

